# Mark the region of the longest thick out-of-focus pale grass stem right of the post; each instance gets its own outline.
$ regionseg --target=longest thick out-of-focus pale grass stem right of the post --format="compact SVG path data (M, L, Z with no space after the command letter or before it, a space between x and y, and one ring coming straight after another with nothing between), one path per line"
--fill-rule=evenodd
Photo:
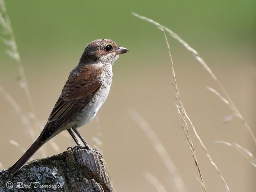
M154 130L150 127L148 122L143 119L143 117L136 111L135 109L130 109L130 114L134 121L140 126L140 128L145 132L148 139L151 141L152 145L154 146L156 152L160 156L161 160L163 161L164 165L166 166L168 172L170 173L172 180L175 184L175 188L173 191L184 192L186 191L186 187L184 185L183 180L181 179L176 166L174 165L172 159L169 157L166 149L164 148L163 144L157 137Z

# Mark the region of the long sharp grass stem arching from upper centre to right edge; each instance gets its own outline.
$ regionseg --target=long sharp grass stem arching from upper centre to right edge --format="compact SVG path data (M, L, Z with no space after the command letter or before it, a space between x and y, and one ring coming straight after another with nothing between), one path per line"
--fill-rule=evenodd
M172 30L170 30L169 28L161 25L160 23L157 23L156 21L149 19L147 17L138 15L136 13L132 12L132 15L134 15L135 17L138 17L142 20L146 20L154 25L156 25L159 28L164 29L165 31L167 31L174 39L178 40L188 51L192 52L194 57L196 58L196 60L198 60L202 66L206 69L206 71L208 71L208 73L212 76L212 78L217 82L217 84L220 86L221 91L224 93L224 95L227 98L228 101L228 106L231 108L231 110L236 114L237 117L239 117L242 122L244 123L245 127L247 128L247 130L250 132L255 144L256 144L256 138L253 135L252 130L250 129L249 125L247 124L247 122L245 121L244 117L240 114L240 112L238 111L238 109L236 108L235 104L233 103L233 101L231 100L231 98L229 97L228 93L226 92L226 90L224 89L224 87L222 86L222 84L219 82L219 80L216 78L216 76L213 74L212 70L208 67L208 65L206 64L206 62L203 60L203 58L198 54L198 52L196 52L195 49L193 49L187 42L185 42L182 38L180 38L179 35L177 35L176 33L174 33Z

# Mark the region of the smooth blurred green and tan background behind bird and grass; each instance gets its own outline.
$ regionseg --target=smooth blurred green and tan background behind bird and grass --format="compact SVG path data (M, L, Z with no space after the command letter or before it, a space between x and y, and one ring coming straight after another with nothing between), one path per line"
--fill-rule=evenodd
M131 11L148 16L178 33L204 58L240 113L255 129L255 21L256 2L245 1L7 1L16 41L28 79L38 121L44 125L69 72L77 65L86 44L110 38L129 49L113 66L113 84L96 118L80 128L84 138L103 151L116 191L156 189L145 180L147 171L167 191L173 181L151 142L132 119L136 109L156 132L176 165L187 191L203 191L192 154L174 105L171 65L163 33L139 20ZM3 34L8 39L8 36ZM190 52L168 36L181 100L212 159L232 192L256 191L256 168L234 148L216 144L236 142L255 155L255 143L237 118L223 124L232 111L206 89L220 91ZM28 115L19 86L17 64L0 44L0 85ZM34 139L10 104L0 97L0 162L10 167L22 155L14 140L27 149ZM102 143L95 142L93 137ZM191 130L197 159L209 192L225 191L220 176L207 159ZM46 156L75 143L66 133L53 139L60 148L44 145ZM41 158L37 153L34 158Z

